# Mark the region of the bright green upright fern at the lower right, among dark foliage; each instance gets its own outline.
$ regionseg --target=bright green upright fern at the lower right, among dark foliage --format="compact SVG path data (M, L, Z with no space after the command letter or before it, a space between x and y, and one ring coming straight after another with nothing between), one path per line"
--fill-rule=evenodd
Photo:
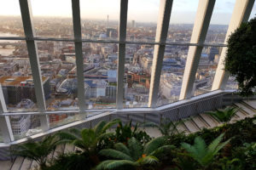
M201 137L196 137L194 145L183 143L182 147L187 150L189 156L195 159L195 161L198 161L202 167L207 167L211 164L214 156L218 154L218 151L230 142L230 140L227 140L224 143L220 143L223 137L224 133L219 135L217 139L214 139L212 144L208 146Z

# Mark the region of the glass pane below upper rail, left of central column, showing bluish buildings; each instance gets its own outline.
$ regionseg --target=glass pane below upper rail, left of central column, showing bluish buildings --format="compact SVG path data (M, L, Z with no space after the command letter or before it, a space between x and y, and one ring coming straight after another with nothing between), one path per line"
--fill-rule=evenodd
M118 44L83 43L85 105L115 108Z

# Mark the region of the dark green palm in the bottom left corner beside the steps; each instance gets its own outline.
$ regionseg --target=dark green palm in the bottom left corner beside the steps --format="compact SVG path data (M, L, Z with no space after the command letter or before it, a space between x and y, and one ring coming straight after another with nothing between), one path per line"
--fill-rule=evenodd
M37 161L40 169L46 169L47 156L59 144L55 136L46 136L40 141L29 140L25 144L15 145L11 150L13 156L22 156Z

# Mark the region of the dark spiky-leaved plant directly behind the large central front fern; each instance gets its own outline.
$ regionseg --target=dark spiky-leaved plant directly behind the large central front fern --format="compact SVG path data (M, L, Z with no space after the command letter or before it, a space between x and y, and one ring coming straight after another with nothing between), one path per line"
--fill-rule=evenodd
M115 130L115 142L127 143L129 139L134 137L141 143L147 143L151 138L143 131L138 131L138 125L135 127L131 126L131 122L123 126L122 122L119 122L119 126Z

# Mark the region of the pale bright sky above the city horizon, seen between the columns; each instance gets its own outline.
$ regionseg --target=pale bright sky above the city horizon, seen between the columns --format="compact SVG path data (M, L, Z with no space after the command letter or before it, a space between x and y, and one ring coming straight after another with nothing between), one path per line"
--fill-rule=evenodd
M81 17L91 20L119 20L120 0L80 0ZM238 0L242 1L242 0ZM71 0L31 0L34 16L72 17ZM199 0L173 0L170 23L191 24ZM211 24L228 25L236 0L216 0ZM160 0L129 0L128 22L156 22ZM253 6L251 17L256 14ZM0 0L0 15L20 15L19 0Z

